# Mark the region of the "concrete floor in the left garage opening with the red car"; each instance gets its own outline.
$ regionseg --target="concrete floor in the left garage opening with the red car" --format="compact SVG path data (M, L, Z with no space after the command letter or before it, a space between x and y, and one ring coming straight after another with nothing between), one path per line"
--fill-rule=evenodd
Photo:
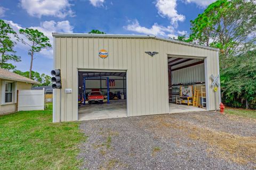
M92 103L78 108L78 120L105 119L113 117L126 117L126 100L110 100L107 104Z

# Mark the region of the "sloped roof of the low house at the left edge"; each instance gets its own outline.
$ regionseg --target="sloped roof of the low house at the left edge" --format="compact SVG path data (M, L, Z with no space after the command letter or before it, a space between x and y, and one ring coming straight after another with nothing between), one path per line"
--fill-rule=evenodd
M0 68L0 79L15 80L18 82L25 82L25 83L31 83L31 84L40 84L39 82L36 82L33 79L23 77L21 75L15 74L14 72L11 72L2 68Z

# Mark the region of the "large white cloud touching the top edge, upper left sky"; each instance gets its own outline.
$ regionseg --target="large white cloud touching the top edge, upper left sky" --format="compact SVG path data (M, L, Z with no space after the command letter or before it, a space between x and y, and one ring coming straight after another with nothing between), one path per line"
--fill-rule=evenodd
M70 9L69 0L20 0L20 5L29 15L38 18L43 15L58 18L74 15L74 12Z

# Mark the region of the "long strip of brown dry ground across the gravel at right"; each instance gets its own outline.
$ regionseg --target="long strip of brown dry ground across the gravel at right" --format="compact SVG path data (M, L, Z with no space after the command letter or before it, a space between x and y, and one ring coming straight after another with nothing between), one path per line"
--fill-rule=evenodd
M218 132L214 129L198 127L172 117L155 116L154 120L155 124L151 126L151 130L158 135L170 137L169 133L163 134L161 132L166 128L176 128L193 140L201 140L209 144L208 151L212 156L218 156L238 164L249 162L256 164L256 137L244 137Z

